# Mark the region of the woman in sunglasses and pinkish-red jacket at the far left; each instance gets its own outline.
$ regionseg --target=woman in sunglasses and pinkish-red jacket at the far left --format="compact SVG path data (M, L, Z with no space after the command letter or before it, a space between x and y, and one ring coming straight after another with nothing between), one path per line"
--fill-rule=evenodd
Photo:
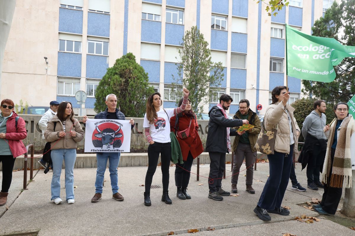
M5 205L9 194L15 158L26 153L21 140L27 137L27 132L24 120L21 117L16 118L18 115L13 111L12 100L2 100L0 109L0 162L2 163L0 206L2 206Z

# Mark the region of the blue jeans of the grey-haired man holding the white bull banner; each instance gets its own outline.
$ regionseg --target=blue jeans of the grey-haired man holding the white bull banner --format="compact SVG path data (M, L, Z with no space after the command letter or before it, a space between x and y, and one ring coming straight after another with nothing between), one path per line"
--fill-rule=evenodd
M120 163L120 152L103 152L102 154L96 154L97 171L95 181L95 193L102 194L102 185L104 183L104 174L106 171L107 160L109 160L109 171L111 179L112 194L118 192L118 174L117 167Z

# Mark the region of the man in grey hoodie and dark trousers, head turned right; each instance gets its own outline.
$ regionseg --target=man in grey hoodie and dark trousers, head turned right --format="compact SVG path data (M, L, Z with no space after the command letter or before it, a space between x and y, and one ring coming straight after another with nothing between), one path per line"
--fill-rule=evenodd
M307 164L307 187L312 190L318 190L318 187L323 188L324 185L320 182L320 167L324 162L325 150L323 150L322 144L327 140L323 132L324 126L326 126L327 117L326 103L323 100L316 100L313 103L314 110L306 117L303 122L302 135L305 138L306 143L314 143L310 139L318 139L318 142L314 143L312 152L309 155ZM307 138L308 137L308 138Z

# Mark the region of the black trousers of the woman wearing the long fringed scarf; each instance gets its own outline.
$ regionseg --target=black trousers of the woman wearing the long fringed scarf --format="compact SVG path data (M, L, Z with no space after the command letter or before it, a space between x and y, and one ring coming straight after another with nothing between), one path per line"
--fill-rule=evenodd
M331 166L331 174L333 171L333 160L334 160L335 149L332 148L331 158L332 158L332 166ZM337 211L340 198L342 197L343 188L333 188L329 186L331 178L328 178L328 184L324 184L324 193L321 201L321 206L324 211L335 214Z

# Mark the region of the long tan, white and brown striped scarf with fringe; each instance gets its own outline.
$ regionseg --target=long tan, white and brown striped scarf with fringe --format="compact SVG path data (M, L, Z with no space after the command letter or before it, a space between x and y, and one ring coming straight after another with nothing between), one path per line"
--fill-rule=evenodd
M334 142L335 132L337 132L335 127L336 125L334 124L330 129L327 153L323 165L322 181L333 188L343 188L343 184L345 185L345 188L350 188L353 178L351 169L350 137L352 134L351 132L355 127L355 121L351 116L345 117L340 126L337 148L335 148L333 160L333 169L332 173L330 173L332 166L331 146ZM330 183L327 183L329 176Z

